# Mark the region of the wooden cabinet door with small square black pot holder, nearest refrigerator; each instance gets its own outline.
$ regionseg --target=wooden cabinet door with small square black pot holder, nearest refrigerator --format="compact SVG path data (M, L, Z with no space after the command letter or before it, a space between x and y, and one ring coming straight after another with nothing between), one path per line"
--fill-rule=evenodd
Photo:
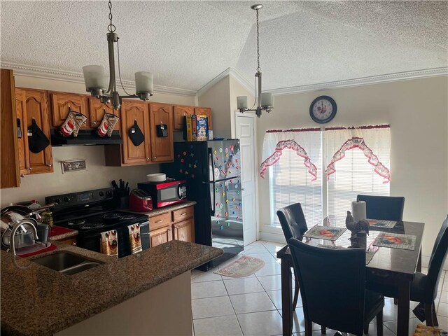
M173 106L168 104L151 103L150 133L151 133L151 161L168 162L174 160L173 144ZM167 137L158 137L157 126L167 125Z

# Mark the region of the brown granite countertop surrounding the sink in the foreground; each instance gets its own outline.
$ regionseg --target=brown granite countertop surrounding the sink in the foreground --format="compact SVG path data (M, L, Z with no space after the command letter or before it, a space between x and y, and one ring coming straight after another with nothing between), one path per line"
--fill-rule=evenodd
M18 258L20 266L29 266L20 269L11 253L0 251L2 335L52 335L223 254L178 240L120 259L53 244L104 264L66 275L30 261L44 254Z

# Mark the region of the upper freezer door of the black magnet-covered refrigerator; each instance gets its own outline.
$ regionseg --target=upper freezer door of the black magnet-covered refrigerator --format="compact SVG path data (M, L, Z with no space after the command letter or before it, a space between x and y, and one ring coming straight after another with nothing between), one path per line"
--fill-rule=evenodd
M241 175L239 140L207 141L209 181L221 181Z

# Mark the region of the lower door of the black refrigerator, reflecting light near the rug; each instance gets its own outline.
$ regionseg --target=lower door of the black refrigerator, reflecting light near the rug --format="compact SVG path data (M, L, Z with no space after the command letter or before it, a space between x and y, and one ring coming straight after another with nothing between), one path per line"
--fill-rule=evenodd
M244 249L240 182L241 179L237 176L210 183L210 193L214 200L211 216L212 245L223 248L225 254L214 262L215 266Z

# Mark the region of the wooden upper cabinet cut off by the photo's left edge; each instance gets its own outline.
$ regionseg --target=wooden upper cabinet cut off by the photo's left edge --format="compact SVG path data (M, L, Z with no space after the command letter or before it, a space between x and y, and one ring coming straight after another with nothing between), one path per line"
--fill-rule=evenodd
M12 70L1 69L0 188L20 186L15 88Z

